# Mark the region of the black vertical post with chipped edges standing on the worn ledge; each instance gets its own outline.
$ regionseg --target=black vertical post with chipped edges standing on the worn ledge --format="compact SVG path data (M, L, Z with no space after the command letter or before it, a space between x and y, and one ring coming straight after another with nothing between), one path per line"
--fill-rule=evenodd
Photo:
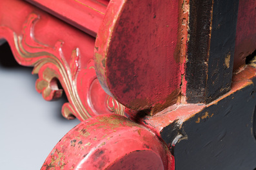
M239 0L190 1L186 98L210 103L231 86Z

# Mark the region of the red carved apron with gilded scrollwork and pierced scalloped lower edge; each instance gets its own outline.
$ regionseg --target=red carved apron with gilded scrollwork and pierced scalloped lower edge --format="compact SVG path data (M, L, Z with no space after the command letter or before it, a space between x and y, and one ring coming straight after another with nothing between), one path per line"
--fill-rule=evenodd
M39 74L36 89L46 100L57 99L62 89L69 103L63 105L68 119L116 113L124 106L100 87L94 69L94 42L90 35L48 15L25 1L0 1L0 39L5 38L21 65Z

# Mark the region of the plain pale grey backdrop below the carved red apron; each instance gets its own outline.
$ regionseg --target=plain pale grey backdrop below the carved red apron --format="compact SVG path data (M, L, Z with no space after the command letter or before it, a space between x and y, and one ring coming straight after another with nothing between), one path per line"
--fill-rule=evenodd
M0 169L40 169L55 144L79 121L61 115L66 98L44 101L37 75L15 62L8 44L0 46Z

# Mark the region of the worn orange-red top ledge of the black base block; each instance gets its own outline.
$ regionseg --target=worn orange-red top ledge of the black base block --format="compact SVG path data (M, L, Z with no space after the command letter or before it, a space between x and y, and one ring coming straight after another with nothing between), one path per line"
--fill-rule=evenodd
M153 116L145 115L144 117L136 117L137 112L134 112L132 110L126 110L126 115L131 117L131 119L136 119L140 124L143 124L144 126L150 128L155 132L159 137L161 137L160 133L161 130L168 126L169 124L172 124L175 121L178 121L182 126L182 123L186 122L191 117L195 116L197 113L199 113L201 110L204 110L205 108L211 106L211 105L217 105L217 103L221 100L226 98L227 96L230 96L237 90L241 90L242 88L250 85L253 83L251 81L251 78L254 78L256 76L256 69L254 67L251 67L250 65L246 65L243 71L233 74L232 78L232 86L231 90L221 96L221 98L216 99L212 103L209 103L208 105L204 104L177 104L170 106L162 112L159 112Z

